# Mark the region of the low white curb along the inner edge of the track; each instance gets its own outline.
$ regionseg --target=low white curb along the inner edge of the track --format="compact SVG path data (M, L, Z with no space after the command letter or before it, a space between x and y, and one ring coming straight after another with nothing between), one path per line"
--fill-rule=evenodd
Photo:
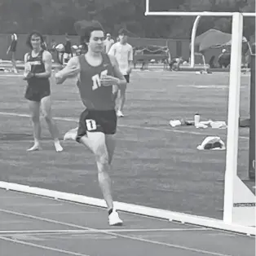
M106 208L105 201L98 198L93 198L89 196L82 196L77 194L70 194L66 192L52 191L44 188L34 188L29 186L24 186L16 183L0 182L0 188L15 192L24 192L38 196L46 196L53 199L59 199L64 201L72 201L85 205L94 205L98 207ZM232 223L223 223L221 220L215 218L206 218L191 214L182 214L179 212L173 212L170 210L160 210L157 208L151 208L142 205L132 205L122 202L114 202L115 208L131 214L139 214L143 216L149 216L153 218L162 218L169 221L188 223L201 227L211 227L213 229L219 229L229 232L238 232L246 235L256 235L254 227L245 227Z

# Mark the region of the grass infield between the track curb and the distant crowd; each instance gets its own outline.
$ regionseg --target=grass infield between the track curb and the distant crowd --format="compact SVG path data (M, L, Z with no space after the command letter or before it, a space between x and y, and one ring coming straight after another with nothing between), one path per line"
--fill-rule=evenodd
M33 141L22 77L0 77L0 180L102 197L94 157L74 142L54 151L43 121L43 150L26 152ZM135 72L119 119L113 161L117 201L222 218L225 151L198 151L207 135L226 142L227 130L175 127L170 119L227 121L228 73ZM60 137L77 126L82 103L74 82L52 82ZM241 117L249 116L249 76L242 77ZM247 178L249 129L240 129L238 172ZM253 183L247 182L251 188Z

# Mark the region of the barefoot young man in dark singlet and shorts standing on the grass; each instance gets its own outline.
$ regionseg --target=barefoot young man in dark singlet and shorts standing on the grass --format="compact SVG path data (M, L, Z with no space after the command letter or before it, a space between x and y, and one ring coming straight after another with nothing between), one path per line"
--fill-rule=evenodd
M39 150L41 137L40 107L49 127L56 152L63 151L58 139L58 130L51 117L51 87L49 78L51 77L51 53L42 49L42 34L33 32L29 34L27 45L31 49L24 55L24 80L28 86L25 98L29 99L29 109L33 121L34 144L28 151Z

